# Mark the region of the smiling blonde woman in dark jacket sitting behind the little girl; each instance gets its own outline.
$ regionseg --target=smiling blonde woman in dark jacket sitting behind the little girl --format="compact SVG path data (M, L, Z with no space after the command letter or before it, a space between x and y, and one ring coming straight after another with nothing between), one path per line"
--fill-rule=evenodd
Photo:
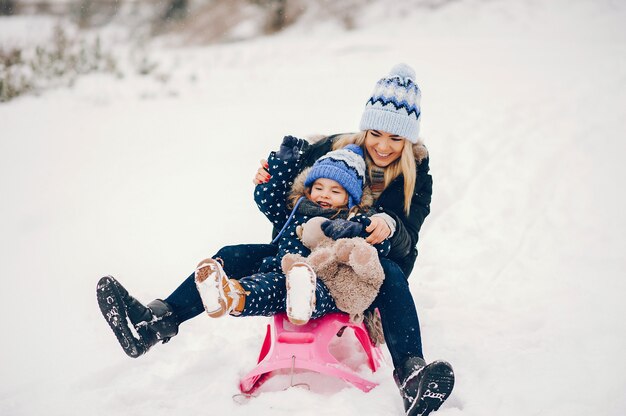
M404 399L406 414L411 416L437 410L454 385L454 373L448 363L426 364L423 358L417 311L407 281L417 257L418 233L430 212L432 193L428 153L418 140L421 94L414 79L410 67L395 66L388 77L377 82L366 104L360 133L330 136L315 144L301 142L294 149L302 152L300 170L331 150L348 144L357 144L364 150L374 207L379 212L366 229L370 233L367 241L371 244L386 238L391 241L388 258L380 259L385 280L370 309L378 308L380 312L395 368L394 378ZM262 166L255 176L255 184L266 182L268 176ZM224 247L213 258L221 259L225 273L237 278L254 273L265 257L275 254L275 245L253 244ZM114 279L101 279L98 290L105 286L119 292L118 298L122 301L115 305L115 313L125 312L141 337L137 351L129 354L131 356L145 353L159 341L169 341L177 334L181 322L204 310L193 274L165 301L157 299L148 307L130 296ZM106 299L102 299L103 314L111 322L102 305ZM124 333L115 333L124 347L129 339Z

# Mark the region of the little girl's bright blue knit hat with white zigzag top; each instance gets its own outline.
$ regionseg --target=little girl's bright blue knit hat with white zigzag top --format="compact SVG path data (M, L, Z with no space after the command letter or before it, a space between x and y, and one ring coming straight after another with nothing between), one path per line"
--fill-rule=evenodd
M343 186L348 193L348 208L360 204L365 179L363 150L356 144L349 144L320 157L304 180L304 186L311 186L319 178L332 179Z

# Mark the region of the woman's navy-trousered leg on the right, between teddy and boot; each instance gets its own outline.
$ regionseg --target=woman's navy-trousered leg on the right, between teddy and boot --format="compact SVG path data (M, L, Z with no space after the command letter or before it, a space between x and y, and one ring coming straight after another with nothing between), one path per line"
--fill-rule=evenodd
M370 308L378 308L387 348L395 368L409 357L424 358L419 320L409 283L393 261L380 259L385 272L378 296Z

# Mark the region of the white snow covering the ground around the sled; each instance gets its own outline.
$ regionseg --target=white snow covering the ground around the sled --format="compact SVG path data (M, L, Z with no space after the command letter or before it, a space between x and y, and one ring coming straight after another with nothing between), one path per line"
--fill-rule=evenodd
M285 134L355 130L397 62L435 184L410 282L427 359L457 373L438 415L626 414L625 5L383 4L348 32L160 48L166 82L93 75L0 105L0 414L402 414L390 365L368 394L279 378L237 404L266 318L201 316L131 360L95 301L102 275L150 301L221 246L268 241L258 160Z

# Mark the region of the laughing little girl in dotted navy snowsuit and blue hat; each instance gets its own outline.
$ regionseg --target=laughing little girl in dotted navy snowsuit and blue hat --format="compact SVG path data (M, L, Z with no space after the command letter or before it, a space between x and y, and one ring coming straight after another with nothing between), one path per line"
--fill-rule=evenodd
M296 263L285 276L281 259L288 253L310 254L298 239L296 228L312 217L332 220L322 226L331 238L367 236L364 229L369 220L364 213L371 206L371 197L366 192L363 198L363 151L356 145L346 146L298 174L301 142L291 136L284 138L280 150L268 158L269 181L254 192L259 209L281 229L274 240L277 254L263 259L258 274L240 279L229 279L215 259L198 265L195 282L209 316L241 315L244 311L248 315L273 315L285 310L292 323L302 325L314 312L318 317L337 310L328 289L317 281L309 265ZM377 248L384 255L389 243L384 241ZM277 290L283 285L285 296Z

